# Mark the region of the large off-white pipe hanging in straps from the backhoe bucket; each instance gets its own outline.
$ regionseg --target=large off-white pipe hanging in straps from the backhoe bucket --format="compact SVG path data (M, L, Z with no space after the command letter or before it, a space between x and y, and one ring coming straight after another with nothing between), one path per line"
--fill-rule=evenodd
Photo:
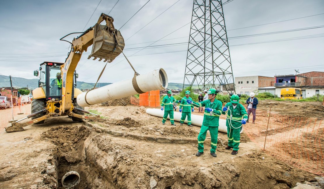
M143 75L81 93L76 97L76 101L80 106L85 107L167 87L167 74L164 69L159 68Z

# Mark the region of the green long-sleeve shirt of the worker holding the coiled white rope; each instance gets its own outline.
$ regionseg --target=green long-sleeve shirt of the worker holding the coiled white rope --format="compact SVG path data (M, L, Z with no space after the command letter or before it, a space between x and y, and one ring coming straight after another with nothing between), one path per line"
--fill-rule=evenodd
M225 104L225 106L228 108L227 112L227 119L226 119L226 126L230 127L230 121L231 121L231 128L233 127L239 127L241 126L242 119L248 119L248 114L245 111L245 108L242 104L238 103L236 108L233 108L233 104L231 102ZM226 112L222 111L222 114L226 114ZM232 117L233 120L229 120ZM234 121L237 120L237 121Z

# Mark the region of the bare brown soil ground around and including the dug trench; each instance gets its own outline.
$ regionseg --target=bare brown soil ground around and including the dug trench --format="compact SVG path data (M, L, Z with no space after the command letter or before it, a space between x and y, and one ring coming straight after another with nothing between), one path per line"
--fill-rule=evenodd
M320 103L314 102L261 101L258 109L268 110L270 103L279 114L323 115ZM80 174L75 188L279 189L318 184L317 175L265 154L245 133L237 155L225 150L227 136L219 133L216 158L209 154L208 133L204 154L196 157L200 127L179 122L174 127L169 121L162 125L162 118L146 114L145 107L110 104L86 108L100 112L103 123L63 116L23 132L1 131L0 188L62 188L68 171ZM203 115L198 110L194 114Z

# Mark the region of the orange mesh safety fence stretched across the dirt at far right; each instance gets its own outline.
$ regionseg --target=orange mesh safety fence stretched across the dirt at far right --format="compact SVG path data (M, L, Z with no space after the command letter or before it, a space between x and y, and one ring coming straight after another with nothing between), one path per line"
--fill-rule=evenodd
M324 176L324 119L256 111L244 125L249 138L277 159ZM270 116L269 116L270 115ZM268 121L269 120L269 121Z

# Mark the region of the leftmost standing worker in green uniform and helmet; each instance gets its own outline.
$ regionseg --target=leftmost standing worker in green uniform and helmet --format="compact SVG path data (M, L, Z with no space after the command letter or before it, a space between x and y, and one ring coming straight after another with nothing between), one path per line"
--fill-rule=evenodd
M161 110L163 111L163 106L165 106L165 110L164 110L164 115L163 115L163 119L162 119L162 124L164 125L165 122L167 121L168 118L168 114L170 114L170 122L171 125L174 125L174 119L173 119L173 102L177 102L176 99L173 98L172 92L171 90L168 90L168 95L165 96L162 100L162 104L161 104Z

